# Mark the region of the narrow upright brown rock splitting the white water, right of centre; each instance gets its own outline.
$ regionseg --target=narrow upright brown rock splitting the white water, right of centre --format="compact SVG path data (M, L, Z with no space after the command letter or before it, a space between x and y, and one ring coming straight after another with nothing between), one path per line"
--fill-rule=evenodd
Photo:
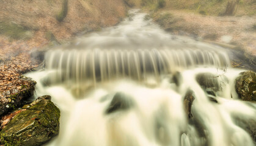
M188 115L188 119L193 117L192 112L191 112L191 106L192 106L192 103L193 103L194 100L195 100L194 91L189 89L186 92L184 100L183 100L183 104L184 104L184 107L185 107L185 113L186 113L186 115Z

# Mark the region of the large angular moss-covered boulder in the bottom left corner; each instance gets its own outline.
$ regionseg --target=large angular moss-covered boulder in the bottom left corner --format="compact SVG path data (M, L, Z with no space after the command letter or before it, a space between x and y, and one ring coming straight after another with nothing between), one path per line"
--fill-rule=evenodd
M24 105L9 123L2 128L3 145L42 145L59 133L60 111L51 102L50 96L38 97Z

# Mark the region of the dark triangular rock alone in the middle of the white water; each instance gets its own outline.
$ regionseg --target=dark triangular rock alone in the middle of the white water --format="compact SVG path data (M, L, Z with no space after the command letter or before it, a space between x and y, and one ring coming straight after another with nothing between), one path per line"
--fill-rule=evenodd
M106 110L106 114L111 114L115 111L125 111L131 108L131 106L133 106L133 100L131 97L123 92L117 92Z

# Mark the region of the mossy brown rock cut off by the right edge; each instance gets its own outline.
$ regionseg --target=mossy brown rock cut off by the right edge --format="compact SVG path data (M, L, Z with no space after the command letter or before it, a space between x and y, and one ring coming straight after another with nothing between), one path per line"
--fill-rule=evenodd
M256 101L256 74L252 71L241 72L235 80L235 89L241 100Z

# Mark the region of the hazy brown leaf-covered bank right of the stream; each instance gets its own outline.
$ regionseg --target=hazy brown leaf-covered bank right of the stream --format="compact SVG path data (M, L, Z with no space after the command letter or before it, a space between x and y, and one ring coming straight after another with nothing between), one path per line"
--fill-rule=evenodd
M205 16L186 10L158 10L153 20L174 35L186 35L242 52L242 58L256 69L256 16ZM232 62L233 68L244 64Z

